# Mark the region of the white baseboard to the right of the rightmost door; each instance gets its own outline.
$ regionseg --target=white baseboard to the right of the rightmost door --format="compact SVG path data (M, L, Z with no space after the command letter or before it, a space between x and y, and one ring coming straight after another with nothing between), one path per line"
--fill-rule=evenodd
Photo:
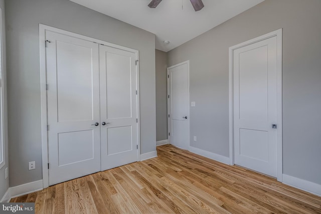
M287 174L282 175L282 183L293 186L298 189L310 192L312 194L321 196L321 185L311 181L303 180L297 177L292 177Z

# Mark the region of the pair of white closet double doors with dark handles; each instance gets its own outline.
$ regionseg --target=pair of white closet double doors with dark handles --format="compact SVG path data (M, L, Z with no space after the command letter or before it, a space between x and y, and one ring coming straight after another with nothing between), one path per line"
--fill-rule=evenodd
M137 53L46 40L49 185L137 161Z

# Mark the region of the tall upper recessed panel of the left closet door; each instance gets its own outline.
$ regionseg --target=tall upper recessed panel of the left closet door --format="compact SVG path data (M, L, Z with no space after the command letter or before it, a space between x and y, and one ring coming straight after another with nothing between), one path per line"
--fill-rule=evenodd
M58 121L93 120L92 48L63 41L56 47Z

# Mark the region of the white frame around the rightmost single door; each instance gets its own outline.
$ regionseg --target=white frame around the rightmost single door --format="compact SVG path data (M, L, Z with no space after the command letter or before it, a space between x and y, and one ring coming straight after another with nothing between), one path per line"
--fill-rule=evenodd
M282 29L278 29L263 36L240 43L229 48L229 147L230 165L234 165L234 115L233 115L233 52L236 49L276 37L277 47L277 136L276 136L276 157L277 157L277 180L282 182L283 155L282 155Z

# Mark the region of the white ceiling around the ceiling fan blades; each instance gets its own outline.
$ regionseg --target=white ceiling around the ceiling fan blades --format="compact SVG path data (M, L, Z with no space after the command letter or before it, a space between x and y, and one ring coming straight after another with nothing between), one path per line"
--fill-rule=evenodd
M168 52L264 0L203 0L198 12L190 0L164 0L155 9L147 7L151 0L70 1L155 34L155 48Z

